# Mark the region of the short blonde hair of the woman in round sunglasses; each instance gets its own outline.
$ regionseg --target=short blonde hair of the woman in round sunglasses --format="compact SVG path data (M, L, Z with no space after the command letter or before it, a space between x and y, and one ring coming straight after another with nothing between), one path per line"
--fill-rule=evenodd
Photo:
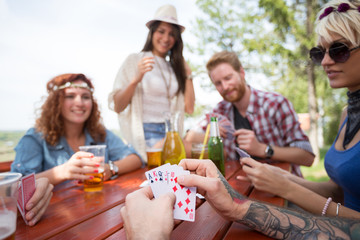
M345 11L338 11L339 5L344 3L345 5L348 4L350 9ZM336 33L349 41L353 46L360 45L359 1L330 1L322 7L316 16L316 19L315 32L319 36L318 42L320 41L321 37L323 37L325 41L331 42L331 35Z

